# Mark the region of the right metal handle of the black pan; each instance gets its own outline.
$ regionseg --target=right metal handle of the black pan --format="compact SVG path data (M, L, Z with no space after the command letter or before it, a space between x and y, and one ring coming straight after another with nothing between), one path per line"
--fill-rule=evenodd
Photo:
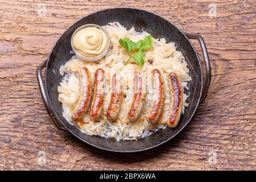
M204 82L204 86L203 86L202 97L201 97L201 100L200 100L200 104L201 104L201 102L203 102L205 100L205 97L207 96L208 89L209 89L209 86L210 86L211 71L210 71L210 60L209 60L209 56L208 56L208 51L207 51L207 47L205 46L204 39L201 37L201 35L199 35L199 34L188 34L188 33L185 33L185 35L187 35L187 37L189 39L197 39L199 44L200 44L200 47L202 49L202 52L203 52L203 57L204 57L204 62L205 62L206 78L205 78L205 82Z

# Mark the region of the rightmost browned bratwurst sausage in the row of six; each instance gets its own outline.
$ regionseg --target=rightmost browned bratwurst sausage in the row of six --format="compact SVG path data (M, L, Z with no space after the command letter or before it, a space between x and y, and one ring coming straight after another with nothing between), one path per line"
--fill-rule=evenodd
M171 90L171 106L168 114L167 125L173 128L179 123L182 111L183 93L180 78L176 73L170 73L170 75L168 75L168 81L170 83Z

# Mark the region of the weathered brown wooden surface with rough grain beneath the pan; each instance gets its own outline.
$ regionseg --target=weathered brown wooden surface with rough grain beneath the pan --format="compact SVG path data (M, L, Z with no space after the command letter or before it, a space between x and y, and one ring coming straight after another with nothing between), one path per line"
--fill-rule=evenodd
M0 0L0 169L256 169L256 2L218 1L217 16L209 17L210 2ZM38 15L40 3L46 16ZM212 66L208 97L191 123L175 139L138 154L98 150L57 130L35 75L72 22L117 6L150 10L200 33ZM38 163L40 151L46 164ZM210 151L216 164L208 162Z

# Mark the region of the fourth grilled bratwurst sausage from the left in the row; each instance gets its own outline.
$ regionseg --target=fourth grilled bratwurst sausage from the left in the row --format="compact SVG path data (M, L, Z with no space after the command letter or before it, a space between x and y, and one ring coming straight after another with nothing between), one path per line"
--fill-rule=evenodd
M146 97L146 83L142 74L135 71L134 73L134 96L130 110L128 112L128 118L130 121L135 121L141 114L144 100Z

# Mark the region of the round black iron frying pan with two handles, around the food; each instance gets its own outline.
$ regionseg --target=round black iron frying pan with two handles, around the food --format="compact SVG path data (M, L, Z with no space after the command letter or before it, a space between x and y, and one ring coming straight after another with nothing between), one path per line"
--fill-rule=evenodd
M167 127L164 130L155 132L154 134L138 139L138 140L121 140L106 139L98 136L89 136L82 133L76 126L72 126L62 115L63 109L58 101L57 86L59 86L62 76L59 73L61 65L64 65L72 55L70 54L71 36L73 32L83 24L93 23L104 26L109 22L119 22L126 28L134 26L135 31L147 31L154 38L165 38L167 42L175 42L176 49L183 53L185 61L188 64L189 75L192 80L189 81L188 103L185 107L184 114L181 115L179 125L175 129ZM202 68L199 57L190 39L197 39L203 51L203 57L206 68L205 84L203 85ZM46 68L45 84L42 79L42 70ZM47 60L45 60L36 69L40 92L43 97L44 105L52 121L60 130L68 131L77 138L92 146L102 148L104 150L115 152L135 152L148 150L159 146L175 137L191 120L197 106L204 101L207 96L210 84L210 63L207 48L203 38L199 34L184 34L179 28L167 19L159 15L150 13L145 10L133 8L113 8L100 10L89 14L73 23L63 34L57 39Z

